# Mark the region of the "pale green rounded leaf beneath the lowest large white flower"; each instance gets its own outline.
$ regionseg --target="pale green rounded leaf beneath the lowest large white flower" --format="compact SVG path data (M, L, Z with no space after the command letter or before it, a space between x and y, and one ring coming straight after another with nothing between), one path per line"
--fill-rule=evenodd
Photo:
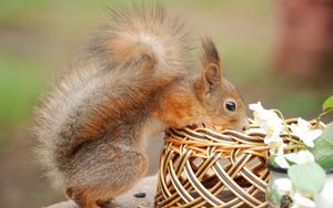
M315 163L291 166L287 176L297 191L310 197L321 191L326 179L324 169Z

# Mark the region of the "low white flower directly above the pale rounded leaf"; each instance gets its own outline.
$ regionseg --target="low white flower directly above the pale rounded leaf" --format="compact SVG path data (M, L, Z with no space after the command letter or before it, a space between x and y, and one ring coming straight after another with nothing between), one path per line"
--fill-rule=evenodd
M314 156L309 150L300 150L297 153L289 153L285 155L278 155L274 162L282 168L289 168L287 160L295 164L306 164L314 162Z

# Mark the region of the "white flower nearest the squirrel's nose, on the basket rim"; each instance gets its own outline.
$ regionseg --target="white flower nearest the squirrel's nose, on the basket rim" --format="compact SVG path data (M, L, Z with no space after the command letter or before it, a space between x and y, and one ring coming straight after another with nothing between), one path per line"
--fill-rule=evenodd
M261 102L250 104L249 108L253 111L254 123L265 131L265 143L278 142L283 129L282 121L278 114L274 111L263 108Z

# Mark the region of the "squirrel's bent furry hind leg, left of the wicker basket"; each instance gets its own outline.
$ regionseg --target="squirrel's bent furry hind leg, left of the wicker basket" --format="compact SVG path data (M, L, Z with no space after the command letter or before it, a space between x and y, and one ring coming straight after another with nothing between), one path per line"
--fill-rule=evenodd
M85 150L78 153L77 158L81 157L79 162L82 164L77 165L82 165L79 169L83 171L78 171L71 178L74 184L82 186L70 186L69 181L70 188L67 189L67 195L82 208L103 207L102 204L132 188L148 168L147 156L134 148L123 145L98 146L93 149L95 154ZM88 160L90 166L87 166Z

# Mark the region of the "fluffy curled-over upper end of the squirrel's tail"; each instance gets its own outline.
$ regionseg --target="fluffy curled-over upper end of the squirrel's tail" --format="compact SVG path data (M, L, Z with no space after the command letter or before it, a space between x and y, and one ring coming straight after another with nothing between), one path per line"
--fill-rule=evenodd
M161 7L111 10L108 24L91 43L91 52L102 63L123 64L142 55L159 69L173 70L189 56L183 23Z

